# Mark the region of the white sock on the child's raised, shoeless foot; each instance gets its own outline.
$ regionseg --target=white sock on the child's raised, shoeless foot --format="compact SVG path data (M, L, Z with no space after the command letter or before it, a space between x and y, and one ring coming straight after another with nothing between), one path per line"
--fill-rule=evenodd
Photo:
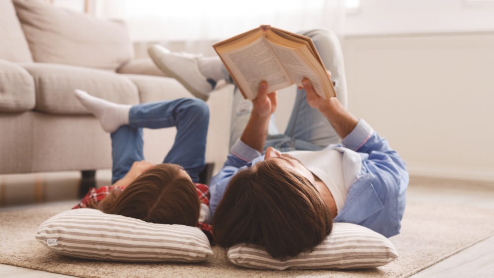
M132 105L117 104L82 91L76 90L76 97L82 105L101 122L106 132L114 132L120 126L128 124L128 113Z

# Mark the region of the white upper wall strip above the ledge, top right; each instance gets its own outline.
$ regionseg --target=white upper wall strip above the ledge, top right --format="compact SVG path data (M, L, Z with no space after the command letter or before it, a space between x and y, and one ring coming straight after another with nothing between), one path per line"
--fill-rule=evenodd
M361 0L344 34L494 31L493 0Z

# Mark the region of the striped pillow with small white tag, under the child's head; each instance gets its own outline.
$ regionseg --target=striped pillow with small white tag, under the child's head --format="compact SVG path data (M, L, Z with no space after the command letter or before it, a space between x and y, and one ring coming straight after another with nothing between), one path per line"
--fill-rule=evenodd
M213 255L199 228L148 223L91 208L51 217L41 224L35 237L55 252L82 259L201 262Z

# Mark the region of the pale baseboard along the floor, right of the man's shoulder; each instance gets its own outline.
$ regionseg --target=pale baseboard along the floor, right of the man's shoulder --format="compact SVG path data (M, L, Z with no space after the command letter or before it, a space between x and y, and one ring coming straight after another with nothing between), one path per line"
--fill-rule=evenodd
M494 169L487 167L409 163L407 168L411 176L494 183Z

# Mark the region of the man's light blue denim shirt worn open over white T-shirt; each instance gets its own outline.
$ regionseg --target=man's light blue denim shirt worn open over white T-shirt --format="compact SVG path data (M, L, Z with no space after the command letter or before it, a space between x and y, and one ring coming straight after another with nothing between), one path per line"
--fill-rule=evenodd
M358 166L361 171L354 177L334 222L359 224L388 238L399 234L409 182L405 161L363 119L341 144L327 148L334 148L343 156L352 150L361 157L360 161L342 159L343 169ZM262 160L261 153L240 140L232 146L223 168L209 183L211 214L214 215L235 173ZM346 165L349 163L352 165Z

